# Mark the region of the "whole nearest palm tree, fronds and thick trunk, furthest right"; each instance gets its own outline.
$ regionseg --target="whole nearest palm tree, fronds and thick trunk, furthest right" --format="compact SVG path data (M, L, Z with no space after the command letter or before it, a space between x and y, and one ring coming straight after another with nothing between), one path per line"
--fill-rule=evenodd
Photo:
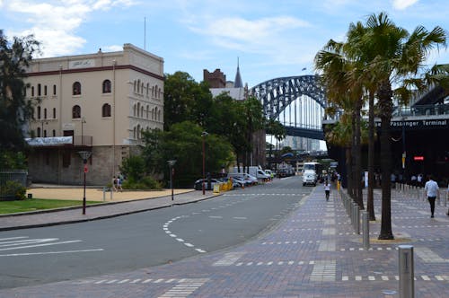
M394 239L391 213L391 144L392 84L402 84L404 79L416 76L424 68L430 50L445 46L446 32L436 26L427 31L418 26L411 34L392 22L386 13L372 14L366 21L365 48L369 48L372 62L367 65L374 75L377 107L381 118L381 169L382 169L382 223L379 239ZM401 95L407 94L404 88ZM399 94L399 93L398 93Z

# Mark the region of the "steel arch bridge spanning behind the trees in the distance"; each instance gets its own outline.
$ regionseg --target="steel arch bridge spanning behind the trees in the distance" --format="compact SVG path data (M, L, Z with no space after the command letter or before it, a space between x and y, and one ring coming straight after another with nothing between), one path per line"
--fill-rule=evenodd
M318 75L271 79L252 87L250 94L260 101L266 118L277 119L286 127L288 136L324 140L322 118L327 101Z

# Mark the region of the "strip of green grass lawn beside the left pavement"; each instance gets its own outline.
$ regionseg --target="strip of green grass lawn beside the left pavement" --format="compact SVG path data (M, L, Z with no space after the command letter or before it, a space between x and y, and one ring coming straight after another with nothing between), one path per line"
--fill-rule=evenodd
M86 201L86 205L99 204L100 202ZM12 214L44 209L53 209L69 206L83 206L83 201L79 200L58 200L46 198L27 198L17 201L1 201L0 214Z

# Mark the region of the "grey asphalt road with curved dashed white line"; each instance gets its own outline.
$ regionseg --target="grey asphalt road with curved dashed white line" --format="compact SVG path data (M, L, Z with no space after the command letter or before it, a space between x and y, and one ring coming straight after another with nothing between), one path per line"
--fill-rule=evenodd
M299 178L101 221L0 232L0 288L166 264L269 231L313 188Z

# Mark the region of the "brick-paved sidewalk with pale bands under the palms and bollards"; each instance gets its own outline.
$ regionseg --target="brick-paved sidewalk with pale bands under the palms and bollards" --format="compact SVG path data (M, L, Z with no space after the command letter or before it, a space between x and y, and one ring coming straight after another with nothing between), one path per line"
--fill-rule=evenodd
M225 196L225 195L224 195ZM279 197L280 199L282 197ZM380 217L380 191L374 192ZM399 297L399 244L415 250L415 296L449 293L449 217L436 206L392 192L395 241L363 249L337 191L315 188L277 229L240 247L160 267L0 291L0 297Z

